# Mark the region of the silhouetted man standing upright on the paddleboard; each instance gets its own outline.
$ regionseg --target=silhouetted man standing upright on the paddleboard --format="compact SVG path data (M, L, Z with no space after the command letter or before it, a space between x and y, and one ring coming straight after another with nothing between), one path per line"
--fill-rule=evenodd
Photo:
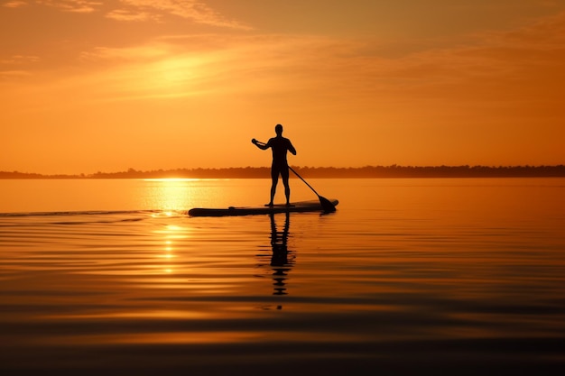
M293 155L296 155L296 149L292 146L291 140L282 137L282 125L276 124L274 127L274 132L276 137L269 139L267 143L258 142L251 140L261 150L267 150L271 148L273 150L273 165L271 165L271 201L266 206L273 206L274 194L276 192L276 185L279 181L279 175L282 178L282 184L284 185L284 195L286 196L286 205L291 205L291 187L289 186L289 165L286 161L286 151L291 151Z

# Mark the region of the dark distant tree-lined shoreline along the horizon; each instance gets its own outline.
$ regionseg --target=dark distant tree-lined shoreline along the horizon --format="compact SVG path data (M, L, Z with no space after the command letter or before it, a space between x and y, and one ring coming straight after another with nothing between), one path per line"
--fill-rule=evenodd
M297 167L303 178L565 178L565 165L554 166L366 166L359 168ZM93 174L39 174L0 171L0 179L267 179L268 167L222 169L134 170Z

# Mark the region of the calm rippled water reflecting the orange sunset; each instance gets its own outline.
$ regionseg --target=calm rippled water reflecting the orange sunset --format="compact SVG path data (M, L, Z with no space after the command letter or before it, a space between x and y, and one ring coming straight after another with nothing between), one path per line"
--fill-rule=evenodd
M310 184L0 180L0 371L561 374L565 179Z

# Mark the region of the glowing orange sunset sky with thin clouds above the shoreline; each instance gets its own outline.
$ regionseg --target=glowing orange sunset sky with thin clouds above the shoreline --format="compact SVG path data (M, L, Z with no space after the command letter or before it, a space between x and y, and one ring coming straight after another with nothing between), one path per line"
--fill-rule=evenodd
M0 4L0 170L565 163L565 0Z

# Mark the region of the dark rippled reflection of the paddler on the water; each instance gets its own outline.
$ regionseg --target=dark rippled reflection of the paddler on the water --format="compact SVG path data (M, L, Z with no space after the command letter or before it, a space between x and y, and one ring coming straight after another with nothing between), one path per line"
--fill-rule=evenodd
M290 214L285 214L284 227L282 232L277 231L274 215L271 216L271 247L273 255L271 256L271 267L273 268L273 295L286 295L285 280L287 279L287 271L291 269L292 262L288 260L288 236L290 227Z

